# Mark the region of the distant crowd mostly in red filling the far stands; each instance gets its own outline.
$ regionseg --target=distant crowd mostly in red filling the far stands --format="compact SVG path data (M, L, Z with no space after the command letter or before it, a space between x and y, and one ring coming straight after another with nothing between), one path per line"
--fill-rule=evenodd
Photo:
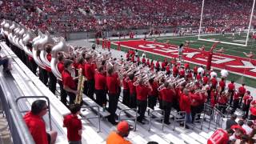
M206 0L202 26L247 26L251 6L250 1ZM2 1L1 9L1 18L13 18L30 28L50 32L134 30L198 27L202 1L28 0L22 3L13 0Z

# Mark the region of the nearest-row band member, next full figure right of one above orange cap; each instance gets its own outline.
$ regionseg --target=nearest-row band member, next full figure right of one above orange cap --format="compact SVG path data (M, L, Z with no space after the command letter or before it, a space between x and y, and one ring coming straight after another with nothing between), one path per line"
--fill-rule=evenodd
M138 86L136 86L136 96L137 96L137 106L138 106L138 122L142 122L145 112L146 112L146 106L147 106L147 97L149 95L149 92L152 91L152 87L147 82L147 86L143 84L143 80L139 79Z

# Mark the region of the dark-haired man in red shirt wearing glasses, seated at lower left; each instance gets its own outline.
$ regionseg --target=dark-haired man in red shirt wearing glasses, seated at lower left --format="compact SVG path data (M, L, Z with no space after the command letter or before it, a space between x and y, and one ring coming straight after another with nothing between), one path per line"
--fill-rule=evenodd
M46 124L42 118L47 113L48 108L46 101L36 100L32 103L31 110L24 116L26 126L36 144L54 144L56 141L57 132L46 133Z

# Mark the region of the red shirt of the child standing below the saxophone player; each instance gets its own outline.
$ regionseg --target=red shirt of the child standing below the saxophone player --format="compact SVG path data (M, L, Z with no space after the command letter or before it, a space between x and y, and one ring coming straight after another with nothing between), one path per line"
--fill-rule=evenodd
M69 141L81 140L81 135L78 134L78 130L82 130L82 122L78 119L78 116L73 114L66 115L63 124L67 129L67 139Z

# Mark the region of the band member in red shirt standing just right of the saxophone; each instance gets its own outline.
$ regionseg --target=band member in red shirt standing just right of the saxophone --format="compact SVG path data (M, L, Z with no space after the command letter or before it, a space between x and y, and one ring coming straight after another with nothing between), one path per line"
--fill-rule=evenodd
M85 64L85 76L87 78L88 86L88 97L94 100L94 66L92 64L93 58L90 55L86 55L86 64Z

